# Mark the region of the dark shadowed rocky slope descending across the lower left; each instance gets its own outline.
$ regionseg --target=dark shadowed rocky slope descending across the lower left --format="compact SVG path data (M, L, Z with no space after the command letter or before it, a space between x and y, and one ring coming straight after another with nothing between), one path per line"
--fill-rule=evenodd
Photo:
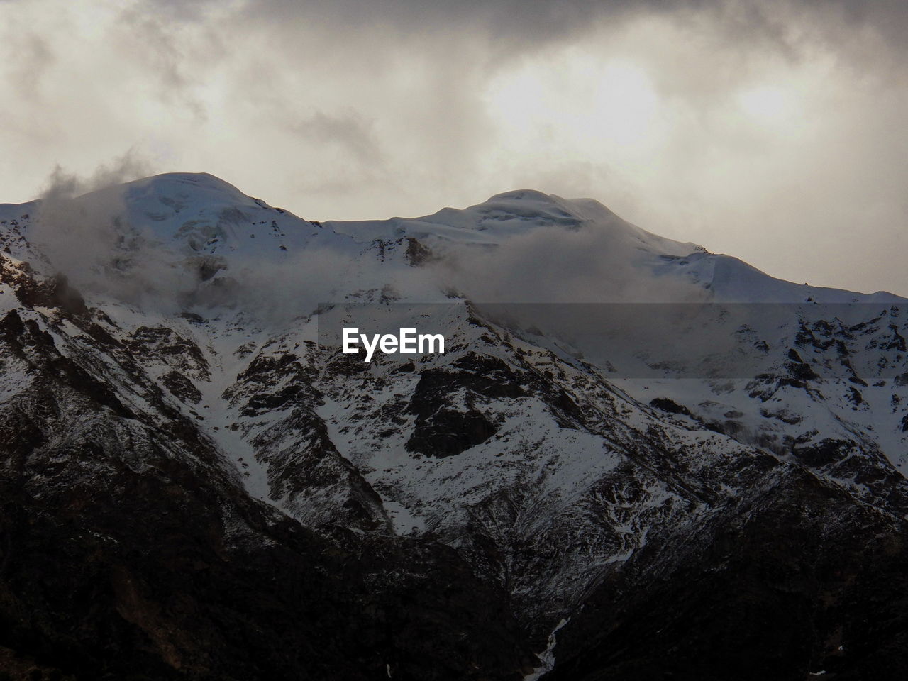
M90 323L55 314L43 318L51 328ZM21 380L0 411L0 631L24 666L86 679L367 679L389 668L518 679L532 667L506 594L452 548L340 524L314 533L248 496L195 419L165 402L179 396L125 361L129 345L112 345L123 358L94 348L73 360L18 311L0 328L5 379ZM146 358L202 370L196 346L172 353L160 342L170 330L130 335L154 341ZM100 357L116 380L81 365ZM276 465L275 495L343 474L356 487L324 426L315 430L329 449L304 454L299 474ZM326 458L340 471L319 473Z

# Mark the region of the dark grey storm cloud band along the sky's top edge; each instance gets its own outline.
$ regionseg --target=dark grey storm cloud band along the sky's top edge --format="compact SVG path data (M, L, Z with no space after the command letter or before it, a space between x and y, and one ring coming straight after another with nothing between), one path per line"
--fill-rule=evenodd
M201 20L217 0L185 3L151 0L174 19ZM304 22L332 29L392 29L403 32L469 31L500 41L503 48L538 48L569 39L599 22L663 15L696 24L704 13L720 19L732 35L774 40L796 49L804 32L791 22L805 18L807 33L838 39L841 32L869 27L903 48L908 3L902 0L248 0L237 10L244 20L291 25ZM803 28L803 27L802 27Z

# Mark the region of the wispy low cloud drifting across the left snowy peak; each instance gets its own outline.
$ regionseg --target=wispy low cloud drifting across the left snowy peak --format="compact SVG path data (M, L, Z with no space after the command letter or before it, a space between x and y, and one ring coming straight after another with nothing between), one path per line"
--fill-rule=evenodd
M44 183L27 234L44 256L46 273L64 274L89 300L113 297L169 313L239 306L275 322L311 313L321 302L343 300L354 291L396 291L419 298L437 285L431 271L388 271L352 244L340 243L330 230L315 231L305 249L287 253L275 248L278 259L246 251L236 241L237 218L231 214L245 224L242 202L217 217L218 229L222 222L226 225L222 238L232 243L222 254L199 252L184 239L162 238L155 230L160 218L134 202L153 189L156 180L142 179L152 172L150 162L133 150L88 176L57 166ZM202 183L200 191L216 192L215 209L218 200L242 201L229 185L205 177L195 182ZM162 202L169 206L181 196L167 194ZM291 224L293 230L307 227L315 230Z

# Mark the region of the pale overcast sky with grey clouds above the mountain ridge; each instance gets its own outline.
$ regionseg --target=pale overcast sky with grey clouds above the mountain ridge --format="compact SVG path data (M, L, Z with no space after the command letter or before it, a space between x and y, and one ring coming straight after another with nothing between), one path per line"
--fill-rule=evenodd
M0 202L56 166L311 220L532 188L908 295L905 35L901 0L0 0Z

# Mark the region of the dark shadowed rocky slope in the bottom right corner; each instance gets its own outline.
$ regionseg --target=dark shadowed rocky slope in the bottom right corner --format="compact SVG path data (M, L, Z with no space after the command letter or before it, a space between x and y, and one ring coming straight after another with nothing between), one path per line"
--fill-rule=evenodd
M897 678L903 532L789 473L608 575L547 678Z

